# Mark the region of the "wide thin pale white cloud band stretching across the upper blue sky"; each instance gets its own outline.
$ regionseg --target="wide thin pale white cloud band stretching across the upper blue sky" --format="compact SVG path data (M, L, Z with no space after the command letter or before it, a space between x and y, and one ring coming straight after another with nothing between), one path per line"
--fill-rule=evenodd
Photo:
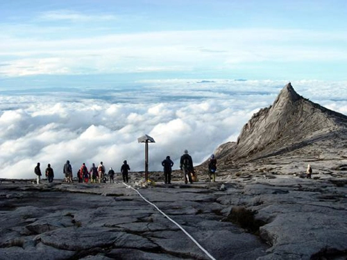
M253 62L341 62L347 60L341 44L346 40L339 31L266 28L109 33L63 40L10 35L0 41L0 74L182 72L250 68Z

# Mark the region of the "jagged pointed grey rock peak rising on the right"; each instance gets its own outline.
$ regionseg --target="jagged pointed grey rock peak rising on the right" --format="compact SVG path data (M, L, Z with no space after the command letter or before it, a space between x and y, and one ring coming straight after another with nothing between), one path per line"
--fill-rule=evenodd
M289 83L273 105L253 114L237 142L221 145L216 154L219 163L228 167L291 152L297 155L303 148L305 156L316 156L314 146L341 150L346 139L347 116L303 98Z

